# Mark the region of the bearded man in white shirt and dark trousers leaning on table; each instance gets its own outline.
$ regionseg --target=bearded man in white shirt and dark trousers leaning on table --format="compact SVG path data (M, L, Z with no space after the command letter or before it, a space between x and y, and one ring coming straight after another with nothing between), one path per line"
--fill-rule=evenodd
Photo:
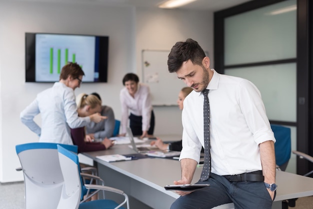
M275 138L260 92L246 79L217 73L209 63L190 38L176 42L168 55L168 71L176 72L194 90L183 101L181 179L174 184L191 183L204 147L204 89L209 89L211 164L208 179L197 182L209 186L176 191L181 196L171 208L212 208L233 202L235 208L269 209L276 192Z

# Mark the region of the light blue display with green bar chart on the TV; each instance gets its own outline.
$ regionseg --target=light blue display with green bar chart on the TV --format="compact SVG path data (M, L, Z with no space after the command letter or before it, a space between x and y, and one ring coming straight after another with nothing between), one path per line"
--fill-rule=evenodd
M68 61L77 62L83 70L94 68L94 36L36 34L35 45L37 81L58 80L62 66ZM84 72L89 71L84 70ZM94 73L85 73L84 79L93 80L94 76Z

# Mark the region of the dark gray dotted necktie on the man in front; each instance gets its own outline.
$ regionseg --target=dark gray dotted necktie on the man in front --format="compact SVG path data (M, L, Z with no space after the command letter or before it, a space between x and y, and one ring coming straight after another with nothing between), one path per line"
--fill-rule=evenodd
M204 163L201 172L201 181L207 180L211 172L210 133L209 133L209 101L208 89L202 91L203 102L203 137L204 137Z

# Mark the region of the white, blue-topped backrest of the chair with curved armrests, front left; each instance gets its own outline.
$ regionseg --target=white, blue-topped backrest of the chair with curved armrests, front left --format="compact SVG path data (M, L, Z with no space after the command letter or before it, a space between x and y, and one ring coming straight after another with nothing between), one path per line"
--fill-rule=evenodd
M78 208L82 199L82 180L77 153L65 149L62 145L57 145L57 150L64 185L56 208Z

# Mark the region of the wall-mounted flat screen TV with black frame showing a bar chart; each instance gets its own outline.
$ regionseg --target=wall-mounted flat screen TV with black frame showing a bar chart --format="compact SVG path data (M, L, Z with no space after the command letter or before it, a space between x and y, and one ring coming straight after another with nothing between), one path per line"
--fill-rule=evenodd
M62 67L76 62L83 82L107 82L108 36L25 33L25 81L55 82Z

